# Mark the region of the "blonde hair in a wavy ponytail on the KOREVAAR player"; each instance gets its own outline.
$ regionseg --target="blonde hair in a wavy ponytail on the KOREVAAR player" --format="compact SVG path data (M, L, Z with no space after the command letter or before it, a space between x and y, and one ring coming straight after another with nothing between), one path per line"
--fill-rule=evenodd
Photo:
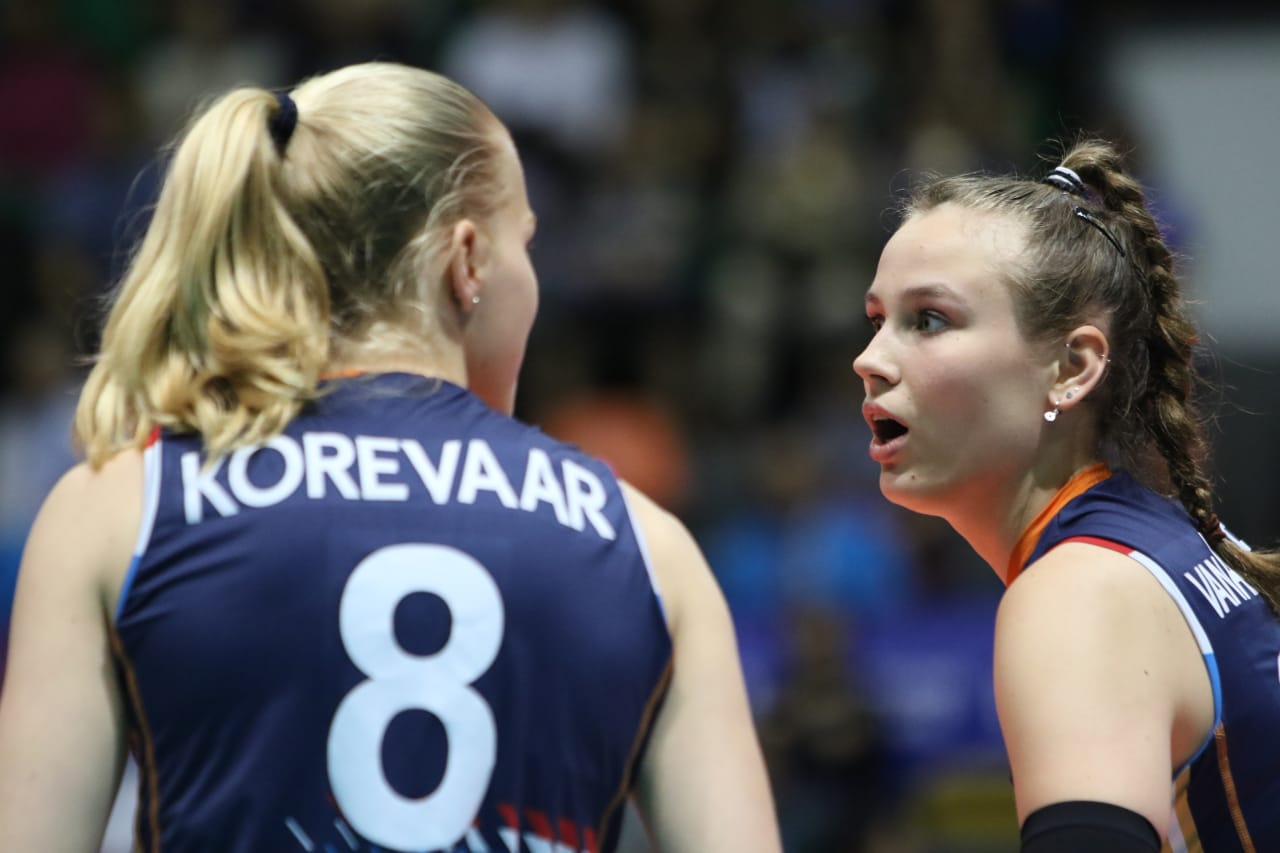
M424 348L447 325L448 229L499 204L497 119L392 63L292 97L284 146L262 88L219 97L180 137L76 411L95 467L157 428L200 433L210 457L260 443L316 396L335 351L374 329L388 350Z

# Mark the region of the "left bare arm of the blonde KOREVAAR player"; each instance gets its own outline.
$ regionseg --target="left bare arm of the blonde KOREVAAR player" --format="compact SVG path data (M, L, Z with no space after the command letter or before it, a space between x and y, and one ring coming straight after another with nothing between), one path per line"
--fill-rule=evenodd
M96 850L124 761L99 567L131 548L95 506L96 476L78 467L54 488L18 574L0 695L0 826L14 849Z

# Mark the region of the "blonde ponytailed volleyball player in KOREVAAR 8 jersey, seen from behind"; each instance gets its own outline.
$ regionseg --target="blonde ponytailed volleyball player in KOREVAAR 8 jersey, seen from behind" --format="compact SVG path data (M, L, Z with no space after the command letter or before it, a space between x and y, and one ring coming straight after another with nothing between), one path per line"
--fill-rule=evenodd
M0 701L0 838L137 848L780 849L685 528L511 418L520 159L394 64L214 102L177 147L49 496Z

